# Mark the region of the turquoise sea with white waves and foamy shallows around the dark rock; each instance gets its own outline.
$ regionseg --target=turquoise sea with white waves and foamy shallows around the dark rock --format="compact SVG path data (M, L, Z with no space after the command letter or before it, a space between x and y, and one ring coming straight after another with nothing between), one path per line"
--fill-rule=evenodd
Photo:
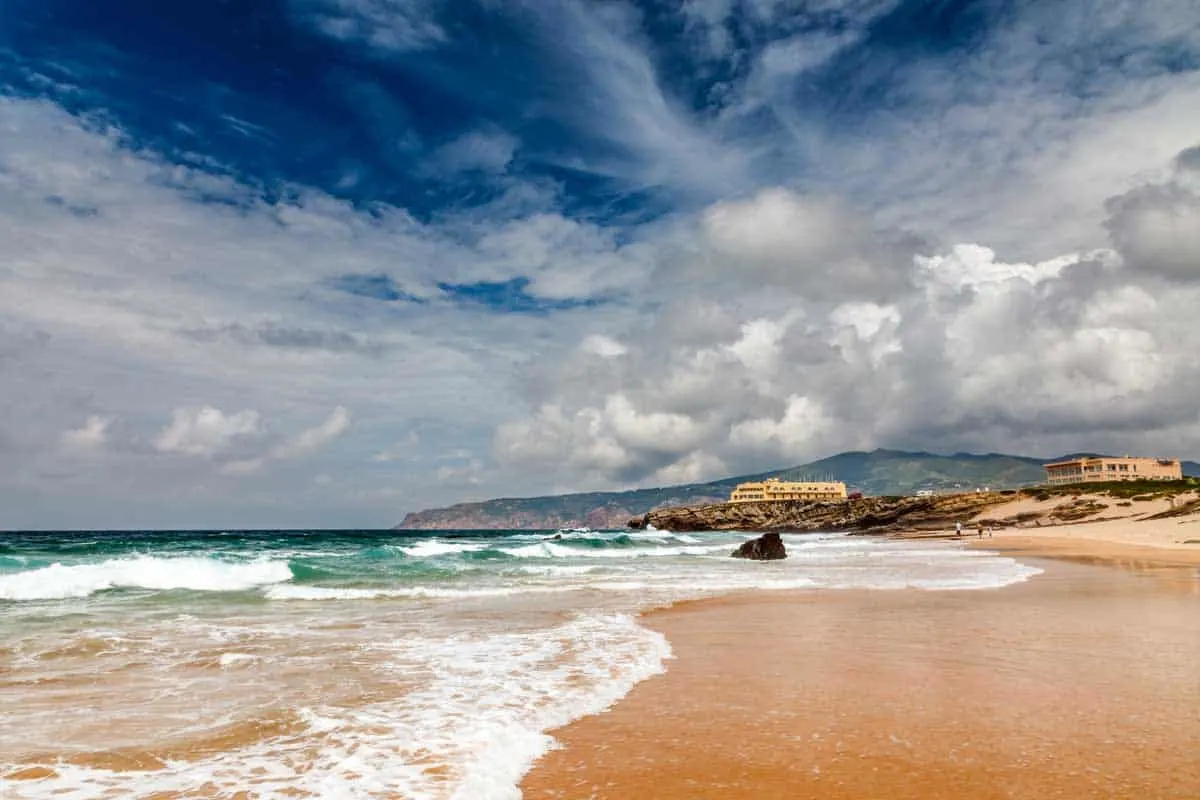
M641 614L740 591L970 591L954 542L662 531L0 534L0 796L508 800L671 668Z

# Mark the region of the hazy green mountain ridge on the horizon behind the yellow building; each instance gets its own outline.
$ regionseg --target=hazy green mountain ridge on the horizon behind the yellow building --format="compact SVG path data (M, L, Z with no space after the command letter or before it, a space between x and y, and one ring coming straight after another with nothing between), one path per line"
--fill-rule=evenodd
M925 452L875 450L845 452L788 469L738 475L708 483L686 483L629 492L584 492L540 498L502 498L460 503L448 509L416 511L400 529L554 529L623 528L632 517L674 505L722 503L738 483L778 476L784 480L832 479L845 481L851 492L912 494L920 489L953 491L989 487L1016 488L1039 483L1039 458L986 453L937 456ZM1200 470L1200 465L1198 470Z

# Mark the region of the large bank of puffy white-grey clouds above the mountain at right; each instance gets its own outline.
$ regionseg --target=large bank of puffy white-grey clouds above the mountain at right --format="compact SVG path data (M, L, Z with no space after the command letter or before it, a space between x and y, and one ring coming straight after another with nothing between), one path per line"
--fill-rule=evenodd
M1200 290L1142 285L1120 237L1120 252L1030 263L976 243L911 251L899 265L893 253L893 288L869 299L805 290L792 275L796 253L836 260L840 216L829 213L779 191L706 211L706 241L740 248L744 271L666 300L620 335L618 357L593 341L532 366L538 410L499 429L498 461L626 485L872 446L1178 455L1195 441Z

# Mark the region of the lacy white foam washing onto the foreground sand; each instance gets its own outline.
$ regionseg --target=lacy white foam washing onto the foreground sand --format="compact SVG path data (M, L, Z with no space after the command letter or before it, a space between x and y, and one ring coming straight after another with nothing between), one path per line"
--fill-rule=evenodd
M401 700L296 709L307 730L211 758L154 771L56 763L53 777L0 777L0 794L78 799L206 786L264 798L518 800L521 776L553 746L548 730L605 710L671 657L660 633L604 614L523 632L406 636L376 651L404 680L412 664L433 667L428 682Z

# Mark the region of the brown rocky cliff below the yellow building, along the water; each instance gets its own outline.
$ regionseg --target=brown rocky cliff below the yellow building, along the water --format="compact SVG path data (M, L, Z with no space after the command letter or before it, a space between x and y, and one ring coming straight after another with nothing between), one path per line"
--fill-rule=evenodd
M659 509L629 522L632 528L659 530L936 530L994 505L1012 500L1000 492L971 492L926 498L862 498L839 503L787 500L775 503L719 503L704 506Z

